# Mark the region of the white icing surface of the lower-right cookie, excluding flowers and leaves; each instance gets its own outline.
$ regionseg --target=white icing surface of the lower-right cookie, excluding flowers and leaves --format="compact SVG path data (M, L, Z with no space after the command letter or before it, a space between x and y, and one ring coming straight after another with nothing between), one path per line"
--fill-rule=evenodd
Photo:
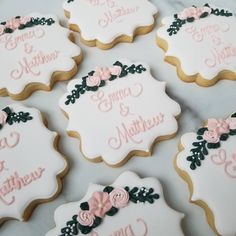
M236 136L221 141L220 147L208 149L208 155L195 170L190 168L187 157L196 133L187 133L181 138L183 150L177 156L177 167L185 171L193 184L192 201L204 201L214 215L215 227L220 235L236 235Z

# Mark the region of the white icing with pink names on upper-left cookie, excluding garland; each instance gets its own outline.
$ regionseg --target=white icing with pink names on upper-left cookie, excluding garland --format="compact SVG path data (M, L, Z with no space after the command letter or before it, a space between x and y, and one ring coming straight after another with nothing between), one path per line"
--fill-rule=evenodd
M75 66L73 57L80 48L68 37L70 31L60 26L55 15L32 13L27 17L52 18L52 25L37 25L13 33L0 35L0 90L20 94L31 83L49 86L53 72L70 71Z

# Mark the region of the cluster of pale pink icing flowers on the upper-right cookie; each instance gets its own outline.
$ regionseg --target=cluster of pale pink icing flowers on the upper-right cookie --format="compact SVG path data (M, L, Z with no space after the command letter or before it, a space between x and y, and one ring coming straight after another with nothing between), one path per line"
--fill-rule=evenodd
M210 7L189 7L184 9L179 15L178 18L181 20L186 20L187 18L193 17L195 20L199 20L200 16L207 12L208 14L211 13Z

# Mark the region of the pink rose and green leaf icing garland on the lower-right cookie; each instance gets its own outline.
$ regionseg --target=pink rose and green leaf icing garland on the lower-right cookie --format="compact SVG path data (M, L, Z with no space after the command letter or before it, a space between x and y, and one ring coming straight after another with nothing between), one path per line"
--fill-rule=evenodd
M223 119L209 119L207 127L200 128L197 131L197 139L199 142L194 142L191 149L191 156L187 160L191 162L190 168L195 170L201 166L201 161L205 160L208 155L208 149L216 149L220 147L221 141L226 141L229 136L236 135L236 113L230 118Z

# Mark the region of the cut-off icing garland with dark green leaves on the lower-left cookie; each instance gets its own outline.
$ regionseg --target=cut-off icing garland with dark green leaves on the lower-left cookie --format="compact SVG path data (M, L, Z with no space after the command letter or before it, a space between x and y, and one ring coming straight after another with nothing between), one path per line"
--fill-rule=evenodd
M30 116L29 112L20 111L18 113L12 112L9 107L0 110L0 129L7 123L13 125L14 123L27 122L32 120L33 117Z

